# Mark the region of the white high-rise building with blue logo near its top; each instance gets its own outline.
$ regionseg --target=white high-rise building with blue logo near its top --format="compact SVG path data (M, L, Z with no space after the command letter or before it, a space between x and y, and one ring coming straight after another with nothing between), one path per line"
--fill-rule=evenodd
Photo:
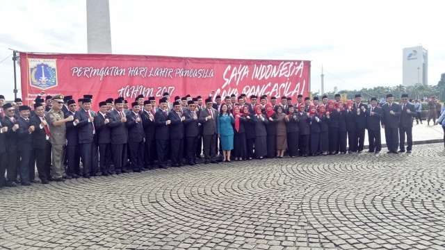
M403 49L403 85L428 85L428 50L422 46Z

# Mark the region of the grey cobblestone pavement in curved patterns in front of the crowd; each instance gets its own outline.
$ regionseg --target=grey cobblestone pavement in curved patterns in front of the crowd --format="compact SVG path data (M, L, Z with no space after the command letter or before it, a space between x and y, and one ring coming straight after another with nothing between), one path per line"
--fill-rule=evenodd
M444 156L423 144L3 188L0 248L445 249Z

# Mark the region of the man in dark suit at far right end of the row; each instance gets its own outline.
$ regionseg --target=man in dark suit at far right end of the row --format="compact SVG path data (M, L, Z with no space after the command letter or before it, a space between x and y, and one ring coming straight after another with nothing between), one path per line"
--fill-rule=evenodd
M408 102L408 94L402 94L402 112L401 122L398 126L400 139L400 153L405 152L405 133L408 146L406 152L411 153L412 150L412 117L416 117L416 108Z

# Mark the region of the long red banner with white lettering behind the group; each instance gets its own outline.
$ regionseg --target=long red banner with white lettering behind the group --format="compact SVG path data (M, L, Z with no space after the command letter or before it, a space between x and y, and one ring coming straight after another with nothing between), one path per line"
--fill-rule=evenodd
M139 95L204 99L212 90L225 97L245 93L268 97L309 96L310 61L179 58L97 54L20 53L22 99L31 103L42 90L47 95L92 94L92 108L107 98Z

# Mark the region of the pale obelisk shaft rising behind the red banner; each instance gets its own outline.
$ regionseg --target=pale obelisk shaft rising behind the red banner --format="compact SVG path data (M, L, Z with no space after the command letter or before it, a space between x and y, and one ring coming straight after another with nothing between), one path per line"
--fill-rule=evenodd
M108 0L86 0L86 31L88 53L112 53Z

